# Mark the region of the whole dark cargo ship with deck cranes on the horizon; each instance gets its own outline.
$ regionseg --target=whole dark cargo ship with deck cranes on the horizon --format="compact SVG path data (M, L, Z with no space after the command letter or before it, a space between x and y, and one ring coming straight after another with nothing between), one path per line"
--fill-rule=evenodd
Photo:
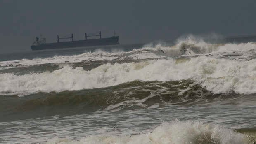
M88 39L88 37L96 37L99 36L98 39ZM61 39L71 39L71 41L65 41L60 42ZM71 37L59 37L57 35L57 42L53 43L46 43L45 38L39 39L36 37L35 42L33 42L31 49L32 50L44 50L44 49L64 49L64 48L74 48L74 47L85 47L85 46L104 46L104 45L115 45L119 44L119 37L114 36L113 37L107 37L102 38L101 32L96 35L88 35L85 33L85 39L84 40L74 40L73 34L71 34Z

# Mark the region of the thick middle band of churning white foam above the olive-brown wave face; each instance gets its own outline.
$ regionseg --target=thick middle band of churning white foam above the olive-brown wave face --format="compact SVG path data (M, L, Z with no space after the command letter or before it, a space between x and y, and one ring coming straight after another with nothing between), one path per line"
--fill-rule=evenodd
M192 79L212 93L256 93L256 59L249 61L206 56L183 62L174 59L139 63L104 64L90 71L64 66L53 72L0 74L0 95L81 90L114 86L128 81L169 81Z

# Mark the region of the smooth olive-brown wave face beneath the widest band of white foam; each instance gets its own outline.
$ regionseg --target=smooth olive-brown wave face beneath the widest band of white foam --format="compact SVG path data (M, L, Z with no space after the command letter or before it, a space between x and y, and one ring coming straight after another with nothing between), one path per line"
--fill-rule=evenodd
M16 97L5 96L2 98L2 102L0 102L3 108L0 110L0 113L33 113L40 111L43 107L44 109L54 108L54 110L31 114L31 118L42 114L44 116L54 116L55 114L72 115L97 110L120 111L123 109L140 109L152 107L155 104L160 107L168 105L195 105L197 103L213 101L216 97L220 96L222 98L219 99L234 98L231 95L214 95L199 85L194 84L193 81L133 81L108 88L93 88L59 93L36 93L26 98L18 98L17 102L14 101ZM5 106L8 106L8 109ZM70 111L65 107L68 109L72 107L72 110Z

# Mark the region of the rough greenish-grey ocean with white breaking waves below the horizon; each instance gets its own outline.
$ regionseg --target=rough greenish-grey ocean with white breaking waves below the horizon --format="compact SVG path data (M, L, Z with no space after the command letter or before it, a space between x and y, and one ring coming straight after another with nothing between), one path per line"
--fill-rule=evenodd
M254 144L256 43L0 55L2 144Z

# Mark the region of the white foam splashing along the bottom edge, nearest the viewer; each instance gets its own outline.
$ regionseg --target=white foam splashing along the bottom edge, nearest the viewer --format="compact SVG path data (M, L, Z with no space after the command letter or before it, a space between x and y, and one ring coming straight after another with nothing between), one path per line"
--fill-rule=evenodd
M193 121L162 123L138 135L91 135L81 139L49 139L46 144L249 144L246 136L218 125Z

